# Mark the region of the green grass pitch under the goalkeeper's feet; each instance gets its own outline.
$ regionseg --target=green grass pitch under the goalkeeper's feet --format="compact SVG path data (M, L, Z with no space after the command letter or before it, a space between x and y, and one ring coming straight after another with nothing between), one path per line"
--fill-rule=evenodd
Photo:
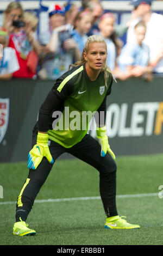
M69 159L54 164L36 197L27 219L36 235L14 236L15 201L28 175L27 163L1 163L0 245L162 245L163 198L158 196L163 185L162 154L117 157L116 163L118 214L140 224L140 229L104 229L98 171L78 159ZM97 198L47 202L81 197Z

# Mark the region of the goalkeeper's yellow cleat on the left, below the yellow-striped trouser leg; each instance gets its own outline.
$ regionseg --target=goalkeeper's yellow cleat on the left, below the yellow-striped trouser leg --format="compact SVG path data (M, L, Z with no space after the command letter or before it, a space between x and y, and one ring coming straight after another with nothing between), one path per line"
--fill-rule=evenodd
M22 221L20 218L20 221L15 222L12 234L18 235L18 236L35 235L36 231L33 229L29 229L28 224Z

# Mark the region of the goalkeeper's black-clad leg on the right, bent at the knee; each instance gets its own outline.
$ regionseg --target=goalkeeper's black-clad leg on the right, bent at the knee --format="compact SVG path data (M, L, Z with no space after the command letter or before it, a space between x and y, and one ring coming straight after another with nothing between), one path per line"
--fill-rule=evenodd
M99 190L107 217L116 216L116 163L107 153L101 157L101 147L90 135L74 145L70 153L99 171Z

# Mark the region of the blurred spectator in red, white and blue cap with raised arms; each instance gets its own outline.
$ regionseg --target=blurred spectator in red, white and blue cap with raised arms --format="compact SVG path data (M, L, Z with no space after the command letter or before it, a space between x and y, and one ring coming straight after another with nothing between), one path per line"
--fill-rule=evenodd
M66 25L65 8L54 4L48 9L49 31L40 35L43 45L40 78L57 79L69 66L80 58L76 42L71 38L71 26Z

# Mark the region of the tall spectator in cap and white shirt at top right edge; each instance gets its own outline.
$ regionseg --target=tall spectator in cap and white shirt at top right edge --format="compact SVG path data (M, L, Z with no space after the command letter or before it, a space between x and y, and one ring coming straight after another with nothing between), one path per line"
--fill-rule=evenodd
M161 24L163 16L152 12L151 0L133 0L130 3L134 7L136 19L131 23L127 32L127 42L135 42L134 27L139 21L146 24L147 31L143 43L149 47L150 64L153 72L163 73L163 33Z

